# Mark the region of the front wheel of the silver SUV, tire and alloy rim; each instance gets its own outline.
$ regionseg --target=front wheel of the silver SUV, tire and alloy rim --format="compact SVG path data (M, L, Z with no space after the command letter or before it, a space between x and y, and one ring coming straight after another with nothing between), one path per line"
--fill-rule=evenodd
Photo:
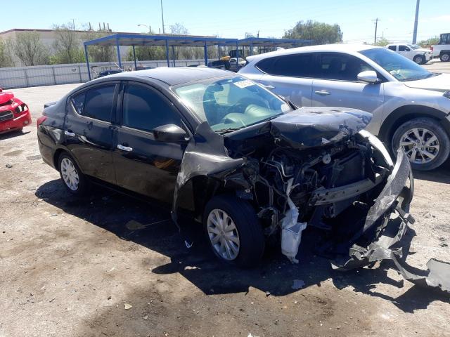
M409 157L411 167L429 171L442 165L449 157L450 140L439 121L416 118L401 124L392 137L392 151L401 147Z

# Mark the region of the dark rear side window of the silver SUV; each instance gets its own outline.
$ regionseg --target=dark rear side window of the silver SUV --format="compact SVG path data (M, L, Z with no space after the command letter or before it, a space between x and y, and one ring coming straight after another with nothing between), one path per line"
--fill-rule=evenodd
M290 77L311 77L314 54L299 53L267 58L257 63L257 67L267 74Z

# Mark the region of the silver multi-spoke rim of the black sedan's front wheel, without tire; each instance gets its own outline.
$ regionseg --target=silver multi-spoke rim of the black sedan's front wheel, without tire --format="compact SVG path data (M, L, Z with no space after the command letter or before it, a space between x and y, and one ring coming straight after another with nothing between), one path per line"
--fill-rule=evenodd
M238 257L239 234L233 219L221 209L213 209L207 218L207 233L214 251L224 260Z

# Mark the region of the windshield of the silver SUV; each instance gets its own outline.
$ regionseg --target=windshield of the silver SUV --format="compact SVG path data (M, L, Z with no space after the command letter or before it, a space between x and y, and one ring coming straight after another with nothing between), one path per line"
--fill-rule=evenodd
M427 79L435 76L432 72L428 72L416 62L405 58L404 56L394 53L385 48L373 48L366 51L360 51L367 58L378 63L387 72L390 72L399 81L414 81L416 79Z

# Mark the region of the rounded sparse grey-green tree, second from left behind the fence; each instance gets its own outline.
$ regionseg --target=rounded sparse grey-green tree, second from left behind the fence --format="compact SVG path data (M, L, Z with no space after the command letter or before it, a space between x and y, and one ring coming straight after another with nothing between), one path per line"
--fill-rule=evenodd
M11 41L11 46L24 65L46 65L49 61L49 53L38 32L18 33L16 39Z

